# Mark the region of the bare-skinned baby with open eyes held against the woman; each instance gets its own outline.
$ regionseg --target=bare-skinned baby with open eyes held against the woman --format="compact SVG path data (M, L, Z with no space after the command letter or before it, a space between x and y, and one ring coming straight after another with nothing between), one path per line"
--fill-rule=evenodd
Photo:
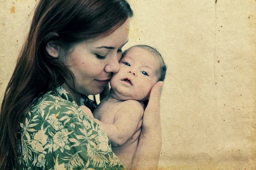
M93 111L95 121L108 134L112 150L128 169L137 149L142 117L151 88L163 81L166 65L161 54L147 45L128 48L113 74L108 97Z

